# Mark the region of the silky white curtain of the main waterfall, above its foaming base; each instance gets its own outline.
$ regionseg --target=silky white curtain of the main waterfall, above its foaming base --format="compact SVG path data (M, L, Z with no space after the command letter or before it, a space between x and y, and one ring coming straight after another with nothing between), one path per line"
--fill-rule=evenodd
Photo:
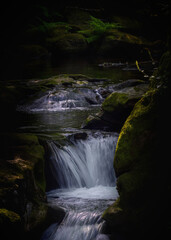
M48 142L51 173L60 188L114 186L113 157L117 142L116 135L89 136L76 140L68 146L59 147Z

